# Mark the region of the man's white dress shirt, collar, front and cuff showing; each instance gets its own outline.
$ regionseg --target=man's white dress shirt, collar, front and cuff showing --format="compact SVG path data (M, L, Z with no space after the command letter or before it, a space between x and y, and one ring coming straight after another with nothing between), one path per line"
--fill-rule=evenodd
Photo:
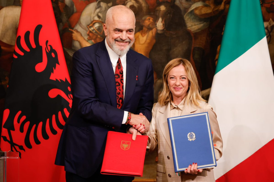
M108 50L108 55L109 55L109 58L110 58L110 61L111 61L111 64L112 64L112 68L113 68L113 73L115 74L115 69L116 69L116 65L117 65L117 61L120 57L120 60L121 60L121 64L122 64L122 67L123 67L123 79L124 79L124 98L125 98L125 91L126 91L126 54L125 55L122 55L122 56L119 56L118 54L116 54L109 46L108 46L108 43L107 43L107 39L105 39L105 46ZM114 75L113 75L114 76ZM127 111L124 111L124 117L123 117L123 122L122 124L125 124L126 123L126 119L128 117L128 112Z

